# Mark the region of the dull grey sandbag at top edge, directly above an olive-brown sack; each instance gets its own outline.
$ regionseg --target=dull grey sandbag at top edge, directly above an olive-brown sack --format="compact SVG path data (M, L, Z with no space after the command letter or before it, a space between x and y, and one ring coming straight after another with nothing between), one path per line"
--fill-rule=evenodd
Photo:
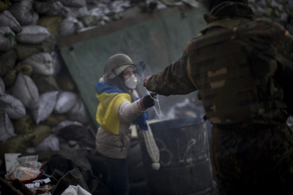
M46 16L66 16L69 9L64 7L60 1L49 0L49 1L34 1L34 9L38 13L42 13Z

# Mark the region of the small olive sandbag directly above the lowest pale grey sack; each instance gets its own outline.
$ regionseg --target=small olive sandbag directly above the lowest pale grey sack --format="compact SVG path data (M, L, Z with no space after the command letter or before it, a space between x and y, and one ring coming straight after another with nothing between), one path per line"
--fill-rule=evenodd
M33 127L33 134L36 136L31 140L31 146L35 147L40 144L46 137L52 133L52 129L46 125L36 125Z

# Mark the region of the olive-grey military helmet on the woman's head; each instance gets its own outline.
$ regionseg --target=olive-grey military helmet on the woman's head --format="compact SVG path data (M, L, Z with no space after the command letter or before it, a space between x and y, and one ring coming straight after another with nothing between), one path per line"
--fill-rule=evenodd
M115 54L112 55L109 59L107 59L105 66L104 66L104 74L109 73L115 67L120 65L136 65L132 62L132 60L125 54Z

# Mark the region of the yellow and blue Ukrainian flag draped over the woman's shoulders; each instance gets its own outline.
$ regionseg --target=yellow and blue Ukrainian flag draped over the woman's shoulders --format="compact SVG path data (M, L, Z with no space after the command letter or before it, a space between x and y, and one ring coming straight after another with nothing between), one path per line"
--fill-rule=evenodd
M110 86L102 82L98 82L95 89L96 97L100 102L96 112L96 121L104 130L118 134L118 108L123 101L132 102L130 95L120 90L118 87ZM142 130L147 130L147 117L147 112L136 117L136 122Z

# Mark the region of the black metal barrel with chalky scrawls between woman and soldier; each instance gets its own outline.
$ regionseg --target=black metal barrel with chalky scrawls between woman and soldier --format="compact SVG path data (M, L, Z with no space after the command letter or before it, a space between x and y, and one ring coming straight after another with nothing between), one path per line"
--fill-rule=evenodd
M151 123L150 127L160 150L159 170L151 167L142 133L139 141L151 194L212 194L208 131L204 121L172 119Z

